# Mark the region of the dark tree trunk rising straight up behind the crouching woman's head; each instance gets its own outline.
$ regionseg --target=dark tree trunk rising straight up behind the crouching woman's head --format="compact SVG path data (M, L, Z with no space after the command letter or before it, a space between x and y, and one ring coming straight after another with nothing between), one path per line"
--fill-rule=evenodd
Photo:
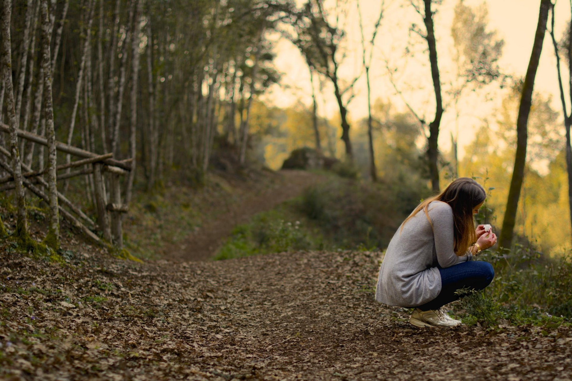
M431 1L425 2L425 17L423 22L427 29L427 45L429 47L429 61L431 63L431 78L433 79L433 88L435 90L435 119L429 123L429 137L427 155L429 158L429 173L431 176L431 187L433 191L439 191L439 167L437 165L439 158L439 126L441 117L443 116L443 98L441 95L441 82L439 80L439 66L437 65L437 47L435 42L435 30L433 26L433 12L431 11Z

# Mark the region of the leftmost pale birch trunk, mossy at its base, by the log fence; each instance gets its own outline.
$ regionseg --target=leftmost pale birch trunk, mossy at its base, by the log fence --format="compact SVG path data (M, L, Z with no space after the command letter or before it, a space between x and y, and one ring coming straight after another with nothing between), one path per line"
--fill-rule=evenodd
M8 124L10 126L10 155L12 156L12 169L14 172L14 183L16 191L16 202L18 206L18 219L16 222L16 231L14 235L22 240L28 238L27 216L26 216L26 200L24 188L22 185L22 168L20 164L20 154L18 151L18 119L16 118L15 102L14 102L14 86L12 83L12 57L11 57L11 40L10 40L10 18L11 18L11 0L3 0L2 9L2 74L5 82L6 109Z

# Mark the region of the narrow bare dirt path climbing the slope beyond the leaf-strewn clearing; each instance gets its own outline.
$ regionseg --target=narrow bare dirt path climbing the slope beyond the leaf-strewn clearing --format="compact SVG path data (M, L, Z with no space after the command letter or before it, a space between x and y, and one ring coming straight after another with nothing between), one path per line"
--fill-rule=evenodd
M161 250L163 258L177 262L208 260L215 255L235 226L248 222L255 214L271 210L280 203L301 195L309 186L327 179L325 175L303 170L282 170L276 176L276 182L253 187L242 202L227 204L226 210L215 219L207 221L181 242Z

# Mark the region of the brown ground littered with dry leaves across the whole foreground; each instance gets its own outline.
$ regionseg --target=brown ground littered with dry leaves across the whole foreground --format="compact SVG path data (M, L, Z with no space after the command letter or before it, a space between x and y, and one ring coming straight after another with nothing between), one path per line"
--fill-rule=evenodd
M572 379L570 327L417 328L376 303L379 252L88 252L74 267L0 253L0 379Z

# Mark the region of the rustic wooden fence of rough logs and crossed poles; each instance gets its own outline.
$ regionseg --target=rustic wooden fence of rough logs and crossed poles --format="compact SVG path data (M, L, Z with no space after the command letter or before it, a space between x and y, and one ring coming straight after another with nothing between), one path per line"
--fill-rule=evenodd
M1 132L9 133L10 127L0 123L0 133ZM21 139L47 146L46 138L40 135L23 130L17 130L17 134ZM100 244L104 243L92 230L100 231L105 240L112 242L115 247L121 249L123 247L122 214L129 210L128 206L122 203L121 176L128 174L131 170L130 162L132 159L118 161L113 159L113 154L98 155L78 147L66 145L62 142L55 142L55 146L58 151L82 158L69 164L57 166L57 171L82 167L78 170L59 174L57 176L58 181L80 175L93 175L93 194L97 208L97 225L89 216L82 212L80 208L67 199L66 196L58 192L60 214L72 225L80 228L84 234L95 242ZM0 191L14 189L13 170L9 165L11 155L9 151L3 147L0 147L0 153L5 156L5 158L0 157L0 166L9 173L6 177L0 178ZM33 171L30 167L22 163L23 186L49 203L47 194L42 190L42 188L47 189L47 182L42 177L47 170L46 167L41 170ZM109 192L106 191L106 184L109 184ZM73 214L63 208L63 206L69 208ZM77 217L74 216L74 214L77 215Z

